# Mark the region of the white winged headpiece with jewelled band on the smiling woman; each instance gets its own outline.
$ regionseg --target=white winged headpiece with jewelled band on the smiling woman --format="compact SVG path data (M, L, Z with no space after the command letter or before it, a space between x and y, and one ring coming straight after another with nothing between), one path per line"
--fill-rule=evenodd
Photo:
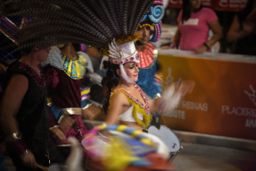
M109 61L118 65L123 65L127 62L135 62L138 64L140 61L134 42L126 42L117 45L114 38L112 42L109 43Z

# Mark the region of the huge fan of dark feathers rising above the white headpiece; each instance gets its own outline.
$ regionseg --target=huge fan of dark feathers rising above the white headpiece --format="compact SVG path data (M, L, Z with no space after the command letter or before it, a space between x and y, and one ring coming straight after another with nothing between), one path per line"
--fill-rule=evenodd
M26 16L32 20L19 32L20 48L72 42L101 48L107 54L114 38L120 44L135 39L132 36L152 3L153 0L10 0L1 2L1 16ZM48 39L42 40L42 36Z

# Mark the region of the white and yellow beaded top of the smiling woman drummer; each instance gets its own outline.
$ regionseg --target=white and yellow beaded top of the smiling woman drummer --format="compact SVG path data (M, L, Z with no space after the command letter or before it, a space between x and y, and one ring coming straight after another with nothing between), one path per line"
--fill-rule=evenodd
M127 91L125 91L123 88L115 88L112 91L112 96L118 92L122 92L127 96L127 100L131 104L131 107L127 109L126 112L119 115L119 120L127 121L127 122L135 122L138 123L138 125L143 126L147 129L148 126L150 126L150 121L152 120L152 115L150 113L150 106L148 104L147 97L145 96L144 92L141 90L141 88L134 84L136 88L138 88L138 91L141 93L141 96L144 99L144 103L139 102L139 100L132 97L131 94L129 94ZM110 105L111 98L110 98Z

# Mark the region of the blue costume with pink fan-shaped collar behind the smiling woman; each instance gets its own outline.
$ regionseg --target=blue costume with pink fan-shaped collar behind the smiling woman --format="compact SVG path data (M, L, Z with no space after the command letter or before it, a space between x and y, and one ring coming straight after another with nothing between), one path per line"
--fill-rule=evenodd
M145 45L143 51L138 51L140 56L140 64L138 86L151 98L155 98L156 94L161 94L161 85L158 77L157 50L150 42Z

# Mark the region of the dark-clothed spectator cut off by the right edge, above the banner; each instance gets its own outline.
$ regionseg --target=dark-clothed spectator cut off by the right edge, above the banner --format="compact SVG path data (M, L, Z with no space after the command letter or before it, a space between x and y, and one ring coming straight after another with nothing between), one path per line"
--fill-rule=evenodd
M247 16L256 7L256 1L249 0L246 7L237 12L228 30L226 40L228 52L233 54L256 55L256 33L254 24L246 22Z

